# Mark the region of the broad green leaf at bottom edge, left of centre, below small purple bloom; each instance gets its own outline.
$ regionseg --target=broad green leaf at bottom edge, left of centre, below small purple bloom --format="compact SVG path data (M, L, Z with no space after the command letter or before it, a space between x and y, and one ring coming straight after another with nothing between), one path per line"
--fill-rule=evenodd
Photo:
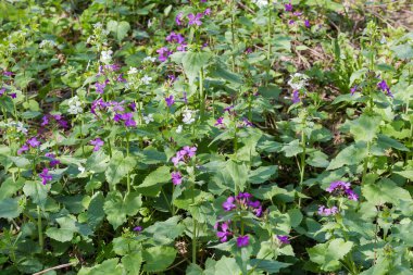
M170 266L176 257L176 250L172 247L151 247L143 250L146 272L162 272Z

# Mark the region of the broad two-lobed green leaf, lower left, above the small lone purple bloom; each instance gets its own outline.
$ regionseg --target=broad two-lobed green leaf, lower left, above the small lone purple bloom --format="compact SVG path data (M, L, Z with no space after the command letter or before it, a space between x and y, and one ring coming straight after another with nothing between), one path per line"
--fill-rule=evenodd
M126 216L138 213L142 205L141 196L138 192L130 192L124 200L117 191L110 191L103 204L107 218L114 229L126 222Z

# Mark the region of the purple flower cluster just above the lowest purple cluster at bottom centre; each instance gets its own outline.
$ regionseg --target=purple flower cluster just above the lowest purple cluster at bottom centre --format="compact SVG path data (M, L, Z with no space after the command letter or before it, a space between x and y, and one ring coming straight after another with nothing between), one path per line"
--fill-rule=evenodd
M259 200L252 201L252 195L240 192L237 196L230 196L223 203L224 211L228 212L235 209L250 210L255 216L261 216L263 209Z

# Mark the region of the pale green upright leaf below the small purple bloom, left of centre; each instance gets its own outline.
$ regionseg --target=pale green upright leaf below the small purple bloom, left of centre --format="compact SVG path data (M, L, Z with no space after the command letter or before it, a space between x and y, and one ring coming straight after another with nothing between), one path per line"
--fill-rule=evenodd
M107 180L112 185L112 188L114 188L114 185L118 184L127 173L133 171L135 165L136 161L134 158L125 158L122 152L114 153L105 172Z

